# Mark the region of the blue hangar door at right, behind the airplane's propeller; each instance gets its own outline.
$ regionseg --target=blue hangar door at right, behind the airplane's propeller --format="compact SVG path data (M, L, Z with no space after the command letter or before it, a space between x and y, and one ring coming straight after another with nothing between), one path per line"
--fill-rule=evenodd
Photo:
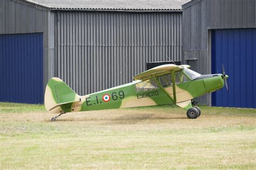
M212 105L256 108L256 29L212 31L212 73L229 76L228 90L212 94Z

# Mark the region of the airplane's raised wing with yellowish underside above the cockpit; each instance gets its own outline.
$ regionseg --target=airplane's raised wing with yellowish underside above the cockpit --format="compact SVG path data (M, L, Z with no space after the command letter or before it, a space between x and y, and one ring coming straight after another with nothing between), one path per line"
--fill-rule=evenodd
M184 69L184 66L187 68L188 65L178 66L178 65L169 64L169 65L157 66L134 76L133 80L148 80L148 79L151 79L152 77L171 73L173 70L174 71L182 70Z

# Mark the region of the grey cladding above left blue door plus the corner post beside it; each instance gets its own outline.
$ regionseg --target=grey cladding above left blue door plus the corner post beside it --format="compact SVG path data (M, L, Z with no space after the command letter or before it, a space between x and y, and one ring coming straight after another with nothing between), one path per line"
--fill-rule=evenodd
M54 76L54 65L51 65L55 58L54 17L50 19L54 13L49 11L48 8L22 0L0 1L0 34L43 33L44 87L49 78Z

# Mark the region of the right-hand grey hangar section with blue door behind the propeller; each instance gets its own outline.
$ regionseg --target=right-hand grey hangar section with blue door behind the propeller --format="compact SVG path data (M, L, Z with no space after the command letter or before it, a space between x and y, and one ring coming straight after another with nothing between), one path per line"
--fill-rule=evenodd
M256 1L194 0L183 5L183 59L201 74L229 75L200 98L221 107L256 108Z

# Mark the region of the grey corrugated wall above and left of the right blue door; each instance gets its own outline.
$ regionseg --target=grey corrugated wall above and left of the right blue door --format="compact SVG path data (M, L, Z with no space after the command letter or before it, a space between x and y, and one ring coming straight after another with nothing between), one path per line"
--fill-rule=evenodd
M183 61L197 59L211 73L211 29L256 27L255 0L194 0L183 5ZM205 95L199 102L209 104Z

